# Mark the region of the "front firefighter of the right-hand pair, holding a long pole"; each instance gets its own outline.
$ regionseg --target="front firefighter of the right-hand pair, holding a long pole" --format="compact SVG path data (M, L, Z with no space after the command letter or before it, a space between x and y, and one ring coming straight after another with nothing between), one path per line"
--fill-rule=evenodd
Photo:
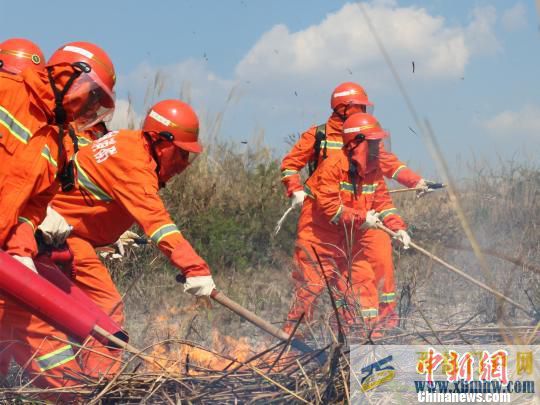
M386 136L373 116L352 115L343 126L343 149L323 160L306 182L307 198L298 223L295 250L295 299L286 331L291 330L302 313L308 322L311 320L313 302L325 288L312 247L321 256L328 278L343 294L347 320L361 318L368 329L378 322L376 282L384 277L380 274L384 270L372 266L367 253L386 246L369 246L373 233L378 232L374 228L382 221L397 231L405 244L410 241L405 224L392 205L378 160L379 143ZM359 313L353 310L358 306Z

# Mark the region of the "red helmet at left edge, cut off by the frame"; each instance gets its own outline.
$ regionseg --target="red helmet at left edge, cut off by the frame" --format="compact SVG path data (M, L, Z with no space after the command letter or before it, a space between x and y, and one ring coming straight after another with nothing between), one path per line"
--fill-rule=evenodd
M22 38L11 38L0 44L0 72L18 74L24 69L42 69L45 58L39 46Z

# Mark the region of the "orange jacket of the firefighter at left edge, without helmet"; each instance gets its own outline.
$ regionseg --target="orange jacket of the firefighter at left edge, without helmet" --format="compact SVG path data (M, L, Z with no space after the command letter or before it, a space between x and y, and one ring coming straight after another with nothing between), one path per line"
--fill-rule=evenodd
M23 220L20 213L30 199L41 208L38 215L43 219L58 190L56 174L72 147L66 141L59 158L58 128L47 124L53 106L46 73L0 73L0 247Z

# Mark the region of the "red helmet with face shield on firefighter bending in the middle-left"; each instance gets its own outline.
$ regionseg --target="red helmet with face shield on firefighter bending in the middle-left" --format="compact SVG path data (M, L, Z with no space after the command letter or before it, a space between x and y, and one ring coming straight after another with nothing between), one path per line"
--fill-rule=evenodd
M180 100L164 100L154 105L146 115L143 132L153 141L160 186L191 164L190 152L202 152L197 114Z

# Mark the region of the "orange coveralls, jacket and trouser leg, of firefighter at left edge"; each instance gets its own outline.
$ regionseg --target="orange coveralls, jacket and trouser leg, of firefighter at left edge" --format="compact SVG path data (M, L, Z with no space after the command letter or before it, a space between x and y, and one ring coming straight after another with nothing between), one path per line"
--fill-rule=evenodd
M60 68L56 69L60 73ZM11 254L25 256L35 249L33 225L25 211L33 206L36 224L45 217L47 204L59 188L57 172L73 149L64 137L59 153L58 128L48 125L53 106L46 73L27 69L20 75L0 74L0 248ZM16 246L15 240L26 243ZM32 354L37 357L50 354L49 342L43 339L39 339L41 345L37 341L28 344L34 336L28 334L26 326L32 322L44 324L0 296L0 372L6 372L12 357L25 364L31 358L27 356L29 346L35 348ZM42 381L38 378L36 383Z

